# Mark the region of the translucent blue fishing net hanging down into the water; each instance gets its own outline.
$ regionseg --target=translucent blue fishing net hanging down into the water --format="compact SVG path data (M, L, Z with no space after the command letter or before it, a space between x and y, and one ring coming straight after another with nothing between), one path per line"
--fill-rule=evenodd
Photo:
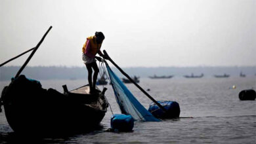
M110 69L108 63L106 63L106 67L121 113L131 115L135 120L159 122L160 120L147 111L133 96L125 84L123 84L112 69Z

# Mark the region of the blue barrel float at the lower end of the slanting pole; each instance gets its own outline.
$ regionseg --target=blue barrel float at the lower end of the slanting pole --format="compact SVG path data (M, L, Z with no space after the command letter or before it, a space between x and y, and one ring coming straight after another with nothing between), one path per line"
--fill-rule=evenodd
M150 103L148 111L154 115L156 118L179 118L181 109L179 103L176 101L158 101L162 105L166 112L164 112L158 105L154 102Z

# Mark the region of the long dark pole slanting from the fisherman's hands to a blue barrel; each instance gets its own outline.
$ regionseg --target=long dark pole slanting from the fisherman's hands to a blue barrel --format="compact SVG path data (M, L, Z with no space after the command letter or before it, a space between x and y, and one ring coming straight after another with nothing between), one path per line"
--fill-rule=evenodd
M108 56L108 53L106 52L106 50L103 50L103 52L104 52L104 55L108 58L108 60L109 60L113 65L115 65L116 68L117 68L123 75L125 75L125 77L127 77L127 79L129 79L131 82L133 82L133 84L135 84L135 86L137 86L137 88L139 88L148 98L150 98L152 101L154 101L154 103L156 103L156 105L158 105L158 107L160 107L163 111L166 112L165 108L164 108L162 105L160 105L160 103L158 103L158 101L156 101L156 100L155 100L154 98L152 98L152 96L150 96L145 90L143 90L143 88L141 88L141 87L139 86L139 84L137 84L135 81L133 81L133 79L131 79L131 77L129 77L129 75L127 75L127 73L125 73L125 72L123 71L123 69L121 69L121 68L110 58L110 56Z

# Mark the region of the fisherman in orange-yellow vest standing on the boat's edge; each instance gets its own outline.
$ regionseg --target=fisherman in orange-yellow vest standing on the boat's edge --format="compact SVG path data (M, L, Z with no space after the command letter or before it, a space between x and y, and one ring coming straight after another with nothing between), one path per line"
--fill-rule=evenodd
M83 63L85 63L88 71L88 82L90 86L90 94L95 94L97 92L95 85L98 77L98 66L96 60L101 61L102 59L96 54L102 56L106 59L106 56L100 51L103 40L105 39L102 32L95 32L94 36L87 37L85 44L83 45ZM95 60L96 59L96 60ZM93 70L95 73L93 74ZM92 82L93 74L93 82Z

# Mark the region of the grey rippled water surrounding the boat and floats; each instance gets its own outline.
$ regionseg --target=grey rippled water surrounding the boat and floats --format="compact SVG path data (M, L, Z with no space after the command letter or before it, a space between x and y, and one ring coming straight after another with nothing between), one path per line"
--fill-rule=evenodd
M1 82L0 88L5 84ZM41 81L44 88L60 92L62 84L69 90L86 81ZM101 122L101 130L87 134L36 140L36 143L256 143L256 101L240 101L238 93L255 90L255 77L229 77L226 79L140 79L140 86L157 100L177 101L181 117L161 122L135 122L133 132L105 132L110 128L112 112L108 108ZM236 89L232 89L235 85ZM127 84L140 103L148 109L151 102L133 84ZM102 89L102 86L100 86ZM110 85L106 96L113 113L120 113ZM32 141L32 137L17 137L9 127L4 113L0 113L0 143ZM34 140L33 140L34 142Z

